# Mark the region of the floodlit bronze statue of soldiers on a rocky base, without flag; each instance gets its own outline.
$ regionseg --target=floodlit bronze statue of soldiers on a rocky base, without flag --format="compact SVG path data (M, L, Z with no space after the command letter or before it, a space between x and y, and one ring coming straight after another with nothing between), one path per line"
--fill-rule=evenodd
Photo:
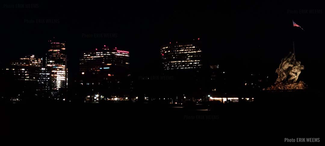
M278 79L275 85L268 87L267 90L307 89L307 85L303 81L297 82L301 70L304 69L300 63L300 61L296 61L295 54L290 52L287 57L281 60L279 68L276 70Z

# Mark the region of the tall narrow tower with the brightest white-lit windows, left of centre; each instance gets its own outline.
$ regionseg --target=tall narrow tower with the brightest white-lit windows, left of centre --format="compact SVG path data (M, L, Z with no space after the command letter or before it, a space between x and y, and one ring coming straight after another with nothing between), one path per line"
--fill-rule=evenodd
M51 68L52 95L64 98L68 86L68 68L65 43L49 40L49 49L46 53L46 66Z

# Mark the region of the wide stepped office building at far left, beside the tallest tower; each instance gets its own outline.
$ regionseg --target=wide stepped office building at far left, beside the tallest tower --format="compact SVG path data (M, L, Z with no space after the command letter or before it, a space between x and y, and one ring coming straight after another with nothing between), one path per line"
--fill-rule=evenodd
M42 58L35 55L27 55L19 60L10 61L10 64L2 68L1 76L4 77L6 87L3 93L11 101L34 100L33 97L48 97L50 68L42 66Z

